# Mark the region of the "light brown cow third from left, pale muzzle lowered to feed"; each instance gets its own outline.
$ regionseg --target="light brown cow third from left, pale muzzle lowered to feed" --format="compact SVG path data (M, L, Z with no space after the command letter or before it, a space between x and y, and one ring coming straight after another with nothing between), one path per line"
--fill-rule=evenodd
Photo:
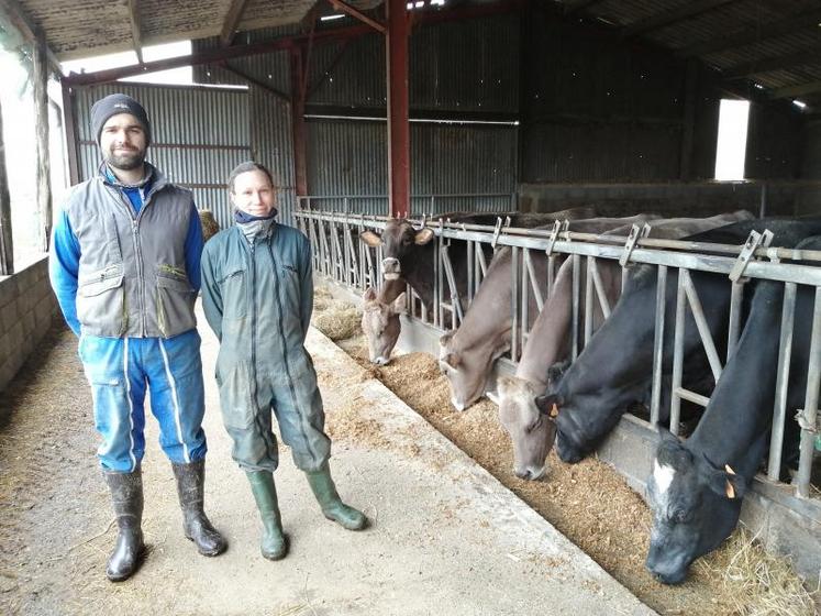
M569 230L579 233L603 233L631 224L655 220L655 215L628 218L591 218L572 220ZM547 285L547 256L543 251L532 251L535 280L542 294ZM504 246L497 251L488 266L487 275L465 312L458 329L440 338L440 369L451 385L451 403L464 410L484 394L493 362L510 350L511 340L511 251ZM529 315L539 314L531 297Z

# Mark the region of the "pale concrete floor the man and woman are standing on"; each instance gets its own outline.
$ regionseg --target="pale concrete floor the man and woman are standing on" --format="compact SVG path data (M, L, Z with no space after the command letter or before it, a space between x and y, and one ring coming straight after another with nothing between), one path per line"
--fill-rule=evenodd
M52 527L29 530L32 544L70 544L70 562L21 564L20 571L34 571L32 583L42 576L41 594L11 603L23 606L21 613L653 614L315 330L308 346L326 413L355 428L334 442L332 469L343 497L374 522L353 534L325 520L284 449L276 480L290 553L264 560L253 499L221 424L212 378L217 341L204 328L202 337L207 510L229 551L207 559L182 537L174 481L148 418L144 526L152 550L142 569L121 584L104 581L114 530L106 531L108 497L89 463L80 483L90 487L70 506L88 516L88 526L67 538L49 539L57 532ZM25 552L21 559L38 558ZM62 571L69 575L60 578Z

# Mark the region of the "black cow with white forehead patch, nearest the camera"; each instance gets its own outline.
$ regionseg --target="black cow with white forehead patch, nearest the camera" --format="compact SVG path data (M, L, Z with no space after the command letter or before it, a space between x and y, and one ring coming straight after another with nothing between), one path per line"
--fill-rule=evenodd
M795 242L781 240L777 244L789 246ZM821 237L797 248L819 250ZM814 290L798 286L788 418L805 402ZM739 346L696 431L681 442L659 428L661 439L646 483L653 526L645 565L665 584L683 582L690 564L718 548L737 524L742 497L769 441L783 299L781 283L755 283ZM788 421L786 431L791 431L787 439L795 442L796 422Z

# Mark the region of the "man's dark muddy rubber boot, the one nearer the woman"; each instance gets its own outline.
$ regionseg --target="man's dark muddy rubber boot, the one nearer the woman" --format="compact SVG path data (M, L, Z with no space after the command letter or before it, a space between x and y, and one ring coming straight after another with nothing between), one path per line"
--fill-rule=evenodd
M202 509L206 488L206 460L188 464L171 464L177 479L177 495L182 509L182 528L186 538L206 557L215 557L228 549L228 542L211 525Z

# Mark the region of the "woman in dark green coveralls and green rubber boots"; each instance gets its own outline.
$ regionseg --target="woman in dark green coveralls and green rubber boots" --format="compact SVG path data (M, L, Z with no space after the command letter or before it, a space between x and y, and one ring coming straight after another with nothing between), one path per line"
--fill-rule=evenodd
M260 550L279 560L288 546L273 475L279 455L271 410L324 516L348 530L364 528L367 519L340 499L331 479L331 439L304 348L313 308L311 248L302 233L275 222L273 184L257 163L231 173L236 226L214 235L202 253L202 306L221 343L222 416L262 516Z

